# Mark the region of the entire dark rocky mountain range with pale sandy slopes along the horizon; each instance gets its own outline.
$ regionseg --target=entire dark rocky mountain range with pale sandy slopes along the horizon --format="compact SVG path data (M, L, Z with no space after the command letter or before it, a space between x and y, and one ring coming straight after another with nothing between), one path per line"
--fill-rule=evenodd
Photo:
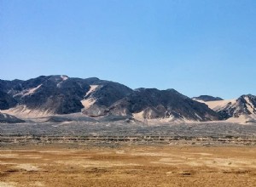
M245 122L248 119L248 122L254 122L256 97L242 95L229 101L201 95L190 99L175 89L131 89L96 77L82 79L56 75L26 81L0 80L0 110L0 122L1 118L19 120L17 117L26 119L72 113L90 118L130 116L139 121L235 122L242 118Z

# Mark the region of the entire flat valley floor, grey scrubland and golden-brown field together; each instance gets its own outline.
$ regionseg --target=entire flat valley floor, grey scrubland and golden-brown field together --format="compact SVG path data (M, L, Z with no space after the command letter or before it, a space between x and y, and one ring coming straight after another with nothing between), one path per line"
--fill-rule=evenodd
M256 186L256 126L0 124L0 186Z

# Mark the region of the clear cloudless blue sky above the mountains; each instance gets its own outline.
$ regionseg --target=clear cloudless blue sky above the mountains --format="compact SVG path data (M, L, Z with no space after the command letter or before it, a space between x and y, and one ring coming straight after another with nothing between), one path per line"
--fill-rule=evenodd
M256 94L255 0L0 0L0 79Z

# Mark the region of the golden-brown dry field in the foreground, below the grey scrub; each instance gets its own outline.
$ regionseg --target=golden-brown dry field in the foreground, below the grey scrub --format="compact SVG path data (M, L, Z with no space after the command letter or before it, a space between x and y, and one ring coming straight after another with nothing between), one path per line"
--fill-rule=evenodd
M256 186L256 147L5 148L0 186Z

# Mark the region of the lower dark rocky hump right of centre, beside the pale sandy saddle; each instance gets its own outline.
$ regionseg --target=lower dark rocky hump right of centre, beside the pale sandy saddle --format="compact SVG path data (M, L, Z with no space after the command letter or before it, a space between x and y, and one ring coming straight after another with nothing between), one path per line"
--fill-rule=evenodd
M94 116L135 116L136 118L167 118L170 120L212 121L218 120L216 112L207 105L189 99L174 89L158 90L139 88L104 109L91 108ZM85 114L88 114L87 110Z

